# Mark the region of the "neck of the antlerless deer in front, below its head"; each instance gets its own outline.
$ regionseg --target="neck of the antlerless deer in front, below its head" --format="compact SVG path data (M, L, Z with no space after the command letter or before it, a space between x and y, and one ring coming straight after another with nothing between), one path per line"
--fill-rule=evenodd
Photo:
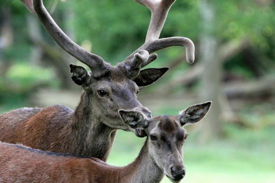
M121 169L123 178L122 182L142 182L156 183L163 178L163 171L157 166L148 150L149 141L146 139L138 157L131 164ZM128 174L125 177L125 174Z

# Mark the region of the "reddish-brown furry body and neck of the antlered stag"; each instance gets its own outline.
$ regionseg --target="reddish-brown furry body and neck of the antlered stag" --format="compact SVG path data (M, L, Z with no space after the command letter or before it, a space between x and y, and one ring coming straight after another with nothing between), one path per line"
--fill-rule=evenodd
M54 105L21 108L0 115L0 140L106 160L116 129L91 116L91 106L85 104L86 95L81 96L75 112L66 106Z

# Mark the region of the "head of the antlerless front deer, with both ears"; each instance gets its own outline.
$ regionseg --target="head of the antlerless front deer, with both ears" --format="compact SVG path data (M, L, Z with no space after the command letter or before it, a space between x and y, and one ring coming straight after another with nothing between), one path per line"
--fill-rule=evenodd
M171 181L178 182L186 174L182 145L188 133L182 127L202 120L211 104L212 102L206 102L193 105L178 116L147 118L143 113L132 110L119 110L119 113L131 128L145 131L152 160Z

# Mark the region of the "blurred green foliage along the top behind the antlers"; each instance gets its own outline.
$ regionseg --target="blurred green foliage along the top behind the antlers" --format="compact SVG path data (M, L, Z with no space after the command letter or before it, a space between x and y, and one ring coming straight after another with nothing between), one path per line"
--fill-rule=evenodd
M263 4L253 0L214 2L217 16L213 32L221 44L247 37L257 51L265 54L272 51L275 42L273 3L263 1L267 2ZM48 10L53 3L53 0L44 1ZM26 16L30 13L19 0L2 1L0 8L4 6L11 8L13 26L17 33L20 32L15 34L15 45L21 45L17 53L23 49L20 53L26 55L26 47L22 47L22 44L26 44ZM74 18L63 23L62 19L58 18L67 9L72 9ZM147 8L128 0L58 1L52 16L61 28L64 24L73 27L77 43L91 41L92 51L112 63L123 60L144 42L150 21L150 11ZM169 12L161 37L184 36L196 43L201 34L200 21L199 0L176 1ZM51 38L49 40L51 41ZM170 57L176 56L174 52L167 54L171 55Z

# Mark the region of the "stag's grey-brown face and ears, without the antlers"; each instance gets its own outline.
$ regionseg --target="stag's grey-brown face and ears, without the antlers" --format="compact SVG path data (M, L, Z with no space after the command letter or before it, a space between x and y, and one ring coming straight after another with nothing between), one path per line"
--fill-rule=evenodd
M168 68L145 69L142 71L127 70L122 66L110 67L108 72L98 78L81 66L70 65L72 80L81 85L93 106L94 115L106 125L117 129L128 129L119 116L119 109L132 109L151 116L151 112L137 100L139 87L147 86L160 78ZM134 75L129 76L132 72ZM134 76L134 77L133 77ZM135 130L142 136L141 130Z

